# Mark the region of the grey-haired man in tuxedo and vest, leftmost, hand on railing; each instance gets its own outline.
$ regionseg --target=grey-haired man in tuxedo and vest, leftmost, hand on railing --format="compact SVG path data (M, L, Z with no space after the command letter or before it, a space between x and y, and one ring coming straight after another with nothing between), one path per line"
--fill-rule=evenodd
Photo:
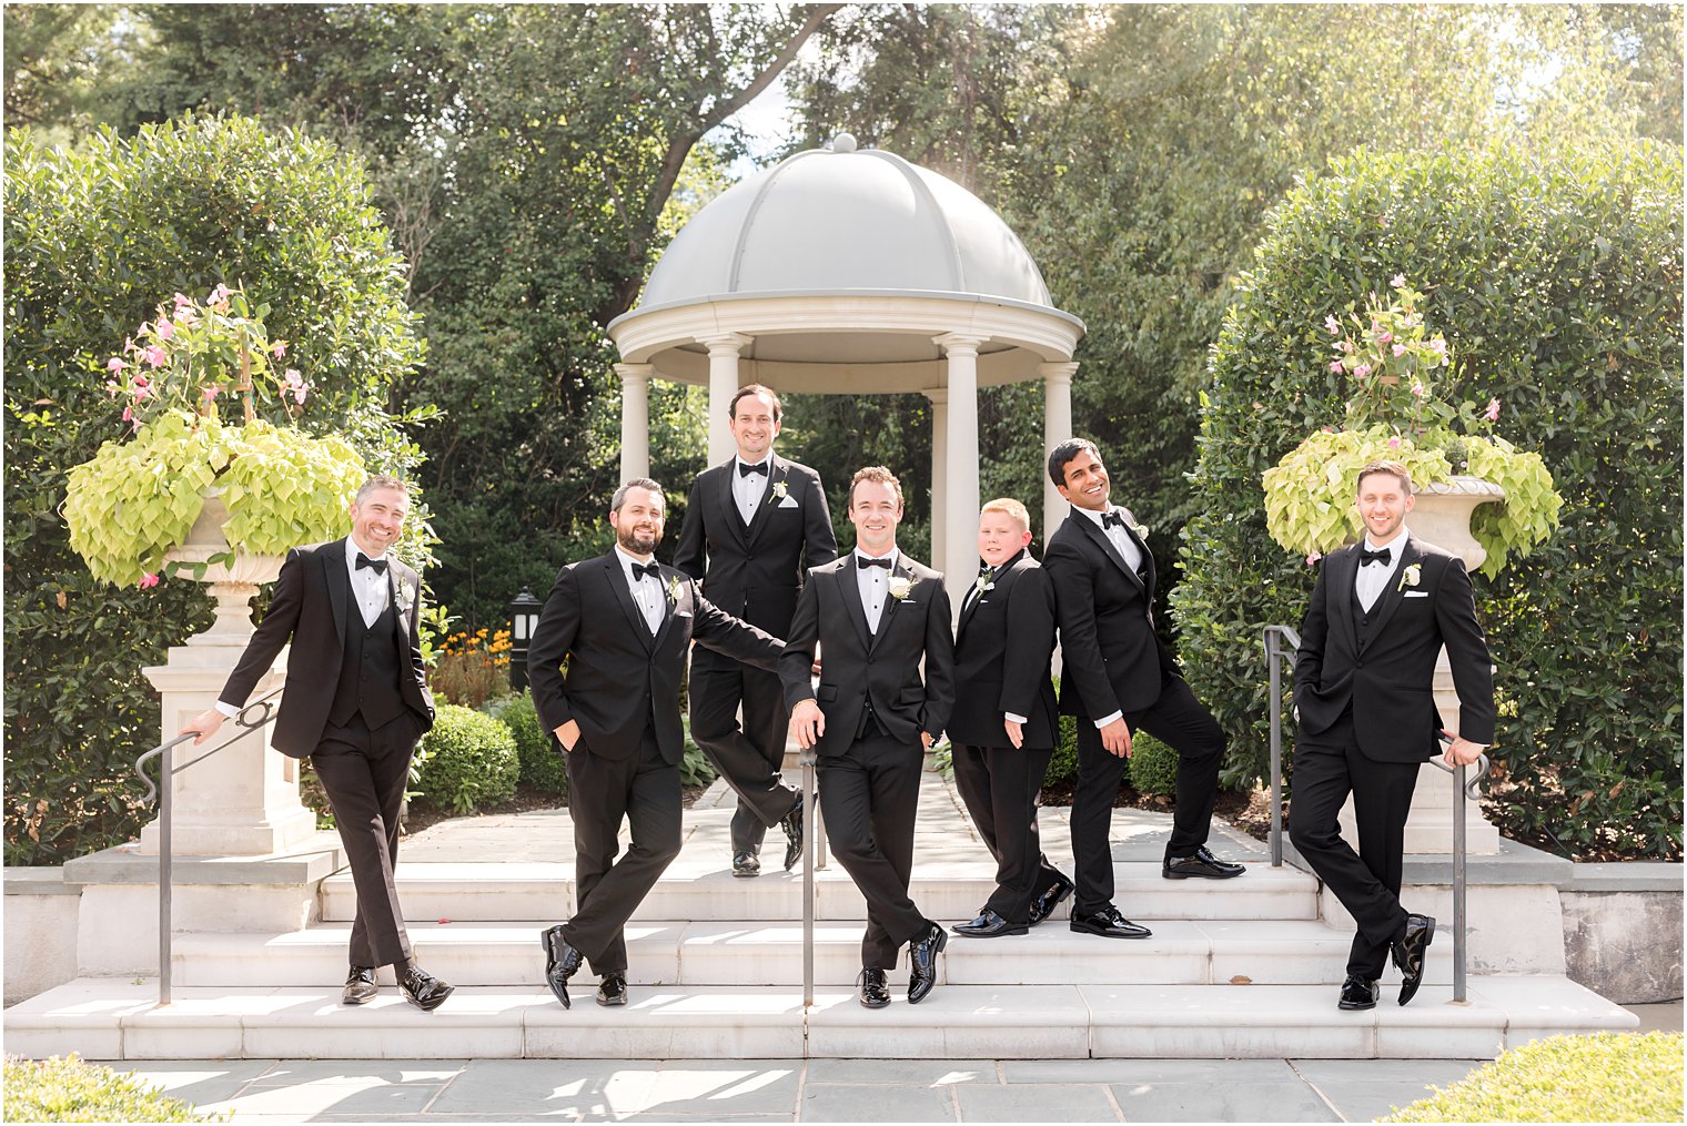
M393 882L410 757L434 727L417 632L422 576L388 555L408 511L405 482L369 477L351 504L349 536L288 551L270 609L216 708L194 716L184 733L199 732L194 742L202 743L224 716L240 715L292 641L272 743L283 755L310 759L351 865L358 914L341 1001L375 1000L375 971L391 966L403 998L430 1013L452 986L415 964Z

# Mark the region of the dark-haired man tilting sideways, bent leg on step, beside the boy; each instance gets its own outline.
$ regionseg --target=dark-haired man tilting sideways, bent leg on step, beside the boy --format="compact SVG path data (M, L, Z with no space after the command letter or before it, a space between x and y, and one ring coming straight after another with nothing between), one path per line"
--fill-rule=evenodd
M1108 844L1130 733L1144 730L1178 752L1178 806L1161 875L1228 880L1243 866L1206 848L1225 733L1178 676L1178 664L1154 632L1154 556L1130 511L1108 501L1112 485L1100 450L1085 438L1063 442L1049 453L1049 479L1071 502L1071 514L1043 555L1059 610L1059 706L1078 716L1078 784L1071 799L1078 897L1071 929L1145 939L1149 929L1113 905Z

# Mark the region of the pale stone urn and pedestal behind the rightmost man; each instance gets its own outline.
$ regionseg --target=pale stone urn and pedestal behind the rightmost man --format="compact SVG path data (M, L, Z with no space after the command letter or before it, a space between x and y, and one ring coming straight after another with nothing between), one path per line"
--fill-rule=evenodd
M1471 534L1471 516L1481 504L1505 501L1505 489L1481 477L1453 477L1453 480L1420 485L1405 526L1412 536L1432 543L1464 560L1464 568L1474 571L1488 558L1488 551ZM1478 609L1479 614L1479 609ZM1449 727L1459 721L1459 694L1453 686L1453 666L1447 651L1436 659L1436 710ZM1474 772L1469 769L1466 777ZM1454 775L1441 765L1426 762L1419 769L1417 789L1412 794L1412 812L1405 821L1407 855L1451 855L1453 851L1453 786ZM1341 811L1343 831L1348 839L1358 839L1353 821L1353 799ZM1464 851L1471 856L1493 856L1500 851L1500 831L1481 816L1481 807L1464 802Z

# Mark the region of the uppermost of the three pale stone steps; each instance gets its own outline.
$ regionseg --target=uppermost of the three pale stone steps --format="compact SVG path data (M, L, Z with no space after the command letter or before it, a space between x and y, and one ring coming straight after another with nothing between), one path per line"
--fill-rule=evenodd
M1235 880L1166 880L1157 863L1113 865L1113 902L1125 915L1154 919L1318 919L1318 880L1297 868L1248 863ZM405 919L496 922L574 914L572 863L400 863ZM817 873L817 919L862 920L865 902L838 866ZM931 919L972 919L995 888L995 870L970 861L914 863L913 900ZM1064 917L1071 900L1061 905ZM356 890L349 871L322 882L322 917L349 922ZM719 860L675 861L634 920L781 920L803 917L800 871L737 878Z

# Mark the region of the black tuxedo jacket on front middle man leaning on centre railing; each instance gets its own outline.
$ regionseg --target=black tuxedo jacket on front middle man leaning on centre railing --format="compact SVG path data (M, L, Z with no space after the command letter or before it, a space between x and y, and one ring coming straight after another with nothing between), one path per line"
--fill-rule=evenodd
M891 580L896 578L908 580L908 593L901 600L886 597L879 632L869 634L855 553L808 571L779 659L779 678L786 708L803 700L820 701L827 732L815 743L815 753L849 750L869 700L886 733L903 743L918 743L919 732L936 738L948 725L955 706L955 637L943 575L897 553L891 571ZM810 683L817 646L822 646L818 689Z

